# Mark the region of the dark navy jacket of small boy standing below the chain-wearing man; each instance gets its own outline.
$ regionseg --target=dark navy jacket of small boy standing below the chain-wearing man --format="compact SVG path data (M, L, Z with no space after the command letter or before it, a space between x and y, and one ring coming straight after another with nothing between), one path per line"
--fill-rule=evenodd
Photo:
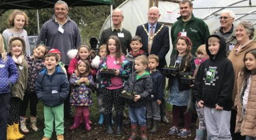
M164 97L164 84L165 84L166 78L158 70L152 72L150 75L153 79L153 91L149 96L149 100L162 101Z

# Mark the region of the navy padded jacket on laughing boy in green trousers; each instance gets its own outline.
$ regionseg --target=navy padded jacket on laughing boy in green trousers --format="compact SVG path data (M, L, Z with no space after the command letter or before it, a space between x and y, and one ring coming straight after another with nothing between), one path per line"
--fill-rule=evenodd
M65 72L56 66L54 74L48 75L47 69L40 71L36 79L36 95L45 106L58 106L64 103L68 96L69 84Z

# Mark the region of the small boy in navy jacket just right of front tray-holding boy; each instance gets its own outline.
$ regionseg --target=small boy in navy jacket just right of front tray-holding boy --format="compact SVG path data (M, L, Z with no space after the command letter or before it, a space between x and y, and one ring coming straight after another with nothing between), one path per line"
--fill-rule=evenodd
M146 129L149 129L151 133L155 133L158 131L158 123L161 120L160 104L164 96L164 80L166 78L157 69L159 65L157 55L149 55L148 61L149 72L153 79L153 91L148 99L149 101L146 103Z

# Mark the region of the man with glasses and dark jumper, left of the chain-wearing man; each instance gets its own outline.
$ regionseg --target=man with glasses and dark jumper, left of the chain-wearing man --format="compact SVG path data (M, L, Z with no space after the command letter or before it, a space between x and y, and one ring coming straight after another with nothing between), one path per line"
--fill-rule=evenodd
M113 26L102 31L99 40L99 46L105 44L108 37L115 35L118 36L121 42L121 49L124 55L126 55L127 50L130 52L130 40L132 39L132 34L130 31L122 27L122 22L124 20L124 12L122 9L114 9L112 12Z

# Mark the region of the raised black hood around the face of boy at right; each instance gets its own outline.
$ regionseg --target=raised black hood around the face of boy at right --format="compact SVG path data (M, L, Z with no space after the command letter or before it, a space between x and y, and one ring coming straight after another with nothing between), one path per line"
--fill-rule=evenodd
M218 49L218 53L215 56L215 58L214 58L213 55L211 55L210 50L208 49L208 47L209 47L208 39L210 37L217 37L220 40L220 49ZM212 34L211 36L209 36L207 38L207 41L205 42L205 50L207 52L207 55L210 57L211 61L216 61L217 59L221 59L221 58L226 58L227 57L227 55L226 55L227 54L227 51L226 51L226 41L225 41L224 37L221 36L220 34Z

